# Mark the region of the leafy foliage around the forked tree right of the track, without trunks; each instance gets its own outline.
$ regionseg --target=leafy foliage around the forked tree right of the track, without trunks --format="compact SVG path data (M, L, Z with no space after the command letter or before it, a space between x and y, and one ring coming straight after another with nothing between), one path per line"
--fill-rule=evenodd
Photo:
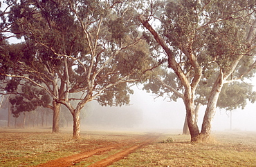
M160 21L155 30L158 30L158 34L170 46L176 62L183 70L182 72L189 81L192 81L195 73L192 63L188 59L189 54L195 55L196 61L203 69L202 78L194 96L196 102L207 104L219 69L225 71L238 56L245 55L235 72L233 72L233 79L246 72L255 61L254 57L251 56L254 51L248 48L246 42L248 28L255 19L255 13L252 10L255 8L255 1L179 0L166 1L158 8L154 7L156 3L158 1L152 3L150 9L153 11L154 17L157 17ZM156 14L157 11L161 11L161 14ZM143 32L143 37L145 37L147 43L154 45L152 35ZM161 52L161 49L155 48L155 52ZM253 72L245 77L253 77ZM152 76L145 83L145 90L161 97L170 97L174 101L179 97L168 86L178 90L181 94L184 93L179 79L172 70L162 67L156 73L167 86L163 86L155 76ZM225 86L223 91L235 91L235 89L237 89L237 95L244 93L244 96L241 96L241 99L236 99L237 96L230 96L235 92L229 92L228 95L221 93L218 102L219 107L244 108L246 99L253 101L251 88L240 86L240 83Z

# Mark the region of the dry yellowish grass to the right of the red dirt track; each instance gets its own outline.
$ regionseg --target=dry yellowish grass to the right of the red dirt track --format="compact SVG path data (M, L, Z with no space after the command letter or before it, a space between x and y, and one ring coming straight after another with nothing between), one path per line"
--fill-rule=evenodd
M215 134L208 144L193 144L189 136L166 135L162 138L173 141L161 138L112 166L256 166L256 135L252 136Z

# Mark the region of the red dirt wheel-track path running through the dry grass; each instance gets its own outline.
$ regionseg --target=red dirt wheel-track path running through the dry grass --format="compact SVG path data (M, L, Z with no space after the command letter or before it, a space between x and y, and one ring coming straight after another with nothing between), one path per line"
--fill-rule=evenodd
M71 155L69 157L62 157L60 159L55 159L53 161L48 161L45 164L40 164L38 167L44 166L72 166L74 164L79 163L80 161L85 161L87 157L91 157L93 155L104 155L109 150L112 149L120 149L121 151L110 155L109 157L102 159L100 161L91 164L90 166L109 166L113 164L113 162L118 161L130 153L134 152L136 149L146 146L147 144L151 144L156 138L159 137L159 134L147 134L147 135L140 135L134 137L134 139L129 140L128 142L123 142L120 144L111 144L109 146L104 146L102 148L97 148L95 150L89 150L84 153L79 153L76 155Z

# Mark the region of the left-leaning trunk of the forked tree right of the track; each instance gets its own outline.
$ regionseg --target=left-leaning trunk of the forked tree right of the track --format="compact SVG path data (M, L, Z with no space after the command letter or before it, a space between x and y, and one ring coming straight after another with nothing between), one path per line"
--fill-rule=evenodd
M154 30L154 28L152 28L152 26L143 15L140 15L138 19L143 24L143 26L147 28L147 30L149 30L149 32L154 36L154 39L156 39L156 41L161 45L163 50L165 50L165 53L168 56L168 67L174 70L176 75L179 77L181 84L184 86L185 92L183 101L186 108L188 128L190 129L191 141L196 141L200 133L199 127L197 126L197 124L195 124L196 122L194 121L194 94L196 87L201 79L202 69L199 66L199 63L196 61L196 57L190 51L191 49L188 48L187 50L187 48L183 47L182 50L184 54L188 57L188 59L190 59L190 63L194 67L195 72L192 83L190 83L189 79L183 73L181 66L179 66L179 63L176 62L174 52L172 52L169 46L167 46L164 39L160 35L158 35L158 33Z

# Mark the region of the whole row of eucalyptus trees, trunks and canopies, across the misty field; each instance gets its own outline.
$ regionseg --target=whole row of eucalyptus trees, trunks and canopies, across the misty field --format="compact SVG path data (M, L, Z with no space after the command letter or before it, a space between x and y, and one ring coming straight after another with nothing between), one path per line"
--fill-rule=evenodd
M84 105L129 104L131 85L142 83L181 98L191 141L204 141L217 107L255 101L246 83L256 66L255 8L251 0L8 0L0 15L1 91L15 95L13 114L53 110L53 132L66 106L78 138ZM22 42L8 43L12 36Z

